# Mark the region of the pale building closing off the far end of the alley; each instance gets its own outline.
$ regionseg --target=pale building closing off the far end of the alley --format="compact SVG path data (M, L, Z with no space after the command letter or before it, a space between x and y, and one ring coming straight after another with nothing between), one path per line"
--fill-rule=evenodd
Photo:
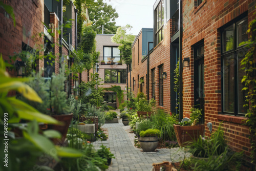
M126 90L127 67L121 60L119 44L111 41L112 34L96 35L96 52L100 52L98 74L103 81L102 88L111 88L111 86L120 86L121 90ZM124 96L126 99L126 95ZM119 101L116 92L105 92L104 101L108 105L117 108Z

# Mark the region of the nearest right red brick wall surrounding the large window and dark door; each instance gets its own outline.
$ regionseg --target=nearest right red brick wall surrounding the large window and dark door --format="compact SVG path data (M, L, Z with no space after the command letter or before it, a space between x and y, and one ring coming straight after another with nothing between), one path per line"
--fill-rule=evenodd
M222 109L221 38L218 29L247 10L248 22L250 22L254 18L254 6L254 1L208 0L199 7L194 7L194 0L183 1L182 57L190 58L189 67L183 69L183 117L189 117L189 110L194 105L194 53L191 47L203 39L205 50L205 125L211 122L213 131L216 131L220 122L225 120L222 126L229 145L236 151L245 151L247 155L250 151L248 127L237 121L228 120L225 115L219 115ZM241 121L242 119L238 120ZM210 136L207 127L205 135Z

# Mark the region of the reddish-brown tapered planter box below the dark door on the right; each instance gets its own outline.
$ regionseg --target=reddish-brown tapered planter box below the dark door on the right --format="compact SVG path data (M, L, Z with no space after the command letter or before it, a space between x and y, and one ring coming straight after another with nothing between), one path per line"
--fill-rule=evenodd
M198 140L204 134L204 125L181 126L174 124L174 131L180 146L185 146L188 142Z

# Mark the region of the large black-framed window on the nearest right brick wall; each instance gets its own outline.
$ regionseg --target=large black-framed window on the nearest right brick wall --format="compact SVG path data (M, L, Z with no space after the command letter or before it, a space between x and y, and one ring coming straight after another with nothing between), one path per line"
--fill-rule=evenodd
M248 40L247 28L245 17L222 29L222 112L235 116L244 116L247 112L243 107L247 93L242 92L244 72L240 65L247 52L241 45L241 42Z

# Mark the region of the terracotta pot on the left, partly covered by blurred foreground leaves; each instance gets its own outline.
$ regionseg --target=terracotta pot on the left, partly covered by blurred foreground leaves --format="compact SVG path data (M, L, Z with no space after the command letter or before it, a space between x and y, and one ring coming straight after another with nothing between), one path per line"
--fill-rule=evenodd
M68 114L68 115L52 115L52 117L58 121L63 122L63 125L49 125L49 129L52 130L56 130L61 134L61 139L53 139L53 142L55 144L62 144L63 142L65 142L67 133L68 133L68 129L69 129L69 125L71 123L73 114Z

